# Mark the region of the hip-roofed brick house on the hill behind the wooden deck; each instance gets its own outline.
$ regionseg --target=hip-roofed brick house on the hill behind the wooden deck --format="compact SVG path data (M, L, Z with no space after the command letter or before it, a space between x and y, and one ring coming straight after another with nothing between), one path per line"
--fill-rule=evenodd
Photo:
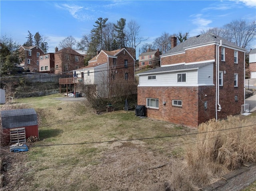
M63 48L54 53L54 73L62 74L84 66L84 56L71 48Z

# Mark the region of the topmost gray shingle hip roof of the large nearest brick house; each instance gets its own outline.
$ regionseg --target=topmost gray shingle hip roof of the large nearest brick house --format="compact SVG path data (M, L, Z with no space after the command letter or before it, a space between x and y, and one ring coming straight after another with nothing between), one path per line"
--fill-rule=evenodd
M213 42L220 43L220 40L222 40L223 45L228 45L228 46L231 46L234 48L242 49L238 45L236 45L222 37L218 37L214 33L204 33L204 34L197 35L197 36L190 37L190 38L186 39L184 42L180 43L176 47L173 47L172 49L167 51L164 55L183 52L183 51L185 51L185 48L187 48L187 47L204 45L204 44L213 43ZM244 50L244 49L242 49L242 50Z

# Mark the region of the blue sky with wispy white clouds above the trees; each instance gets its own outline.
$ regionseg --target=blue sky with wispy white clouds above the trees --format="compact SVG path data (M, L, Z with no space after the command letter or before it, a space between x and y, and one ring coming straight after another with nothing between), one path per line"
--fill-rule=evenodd
M0 1L1 36L12 37L17 43L26 42L28 31L48 37L48 52L54 52L65 37L80 40L89 34L95 21L108 18L116 23L125 18L140 26L140 36L154 41L162 33L189 32L190 37L201 30L221 27L232 20L256 19L255 0L164 0L164 1ZM143 43L144 43L143 42ZM255 42L255 41L254 41ZM142 45L143 45L142 43ZM256 48L252 43L251 48ZM138 52L138 50L137 50Z

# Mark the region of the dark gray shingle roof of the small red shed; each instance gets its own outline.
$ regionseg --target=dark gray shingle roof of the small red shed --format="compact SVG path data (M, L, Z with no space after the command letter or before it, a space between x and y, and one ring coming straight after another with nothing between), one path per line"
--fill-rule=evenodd
M1 111L4 129L37 125L37 114L34 109L16 109Z

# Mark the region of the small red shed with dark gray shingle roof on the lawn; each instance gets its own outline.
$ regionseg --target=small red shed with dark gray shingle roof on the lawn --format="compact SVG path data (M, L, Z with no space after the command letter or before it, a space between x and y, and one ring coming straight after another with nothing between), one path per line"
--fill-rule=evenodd
M10 131L25 128L26 139L39 136L37 114L34 109L16 109L1 111L2 132L5 142L10 142Z

